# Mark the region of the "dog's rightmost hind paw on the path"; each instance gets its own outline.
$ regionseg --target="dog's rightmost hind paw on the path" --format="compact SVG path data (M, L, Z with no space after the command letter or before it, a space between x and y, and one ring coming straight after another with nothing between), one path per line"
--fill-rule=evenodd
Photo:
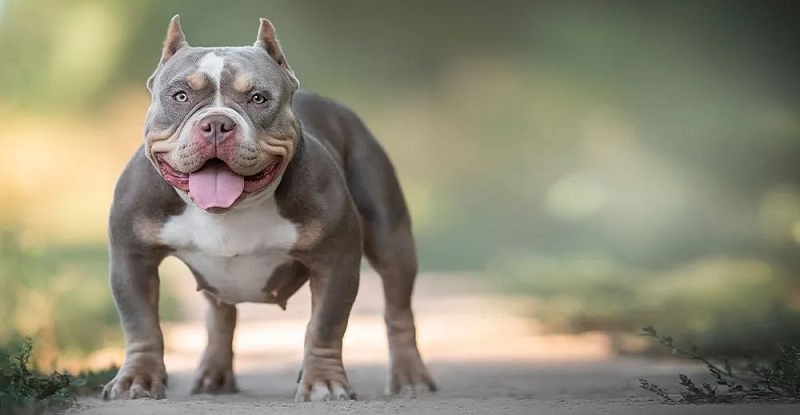
M392 354L389 381L386 385L387 395L417 398L438 389L416 348Z

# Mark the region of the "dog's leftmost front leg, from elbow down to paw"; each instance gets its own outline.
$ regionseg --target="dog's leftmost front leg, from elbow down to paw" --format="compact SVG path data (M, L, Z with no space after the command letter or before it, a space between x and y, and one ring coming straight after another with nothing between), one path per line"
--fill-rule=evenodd
M104 399L163 399L167 372L158 319L158 264L163 256L111 244L110 283L125 334L125 363Z

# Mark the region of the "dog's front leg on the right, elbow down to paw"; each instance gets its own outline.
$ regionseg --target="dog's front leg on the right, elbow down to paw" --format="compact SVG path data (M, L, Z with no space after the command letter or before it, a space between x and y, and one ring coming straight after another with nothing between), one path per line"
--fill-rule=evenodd
M295 395L298 402L356 397L342 363L342 339L358 293L359 257L344 255L335 261L311 267L311 321Z

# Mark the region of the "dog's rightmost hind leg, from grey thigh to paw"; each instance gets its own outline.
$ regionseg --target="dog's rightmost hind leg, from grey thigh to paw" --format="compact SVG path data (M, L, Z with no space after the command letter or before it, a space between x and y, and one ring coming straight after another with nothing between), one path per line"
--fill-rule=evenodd
M346 164L350 192L358 206L364 254L380 274L389 343L388 394L416 396L436 384L420 357L411 306L417 255L411 218L388 156L367 131Z

